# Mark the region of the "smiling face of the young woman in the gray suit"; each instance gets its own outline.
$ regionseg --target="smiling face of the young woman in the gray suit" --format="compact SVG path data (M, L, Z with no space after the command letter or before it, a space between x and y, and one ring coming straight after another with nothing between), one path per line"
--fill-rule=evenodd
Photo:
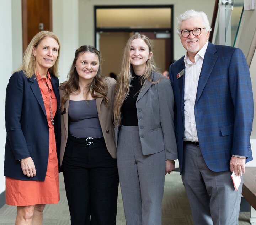
M145 68L146 62L151 57L148 45L140 38L133 39L130 47L130 62L133 68Z

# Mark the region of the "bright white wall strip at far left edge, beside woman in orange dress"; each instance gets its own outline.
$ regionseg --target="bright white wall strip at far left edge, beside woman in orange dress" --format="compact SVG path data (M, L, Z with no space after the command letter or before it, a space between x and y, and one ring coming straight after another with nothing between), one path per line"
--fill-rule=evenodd
M12 11L11 1L0 0L0 193L5 190L4 149L5 149L5 90L12 72Z

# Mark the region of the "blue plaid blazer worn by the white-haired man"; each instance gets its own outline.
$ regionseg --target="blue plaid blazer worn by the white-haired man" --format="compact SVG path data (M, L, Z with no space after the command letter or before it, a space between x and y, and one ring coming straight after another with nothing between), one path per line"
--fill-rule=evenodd
M175 135L180 171L183 166L184 56L170 66L175 100ZM203 158L212 171L230 170L232 155L252 160L250 135L254 104L249 68L238 48L209 42L199 77L194 106L196 128Z

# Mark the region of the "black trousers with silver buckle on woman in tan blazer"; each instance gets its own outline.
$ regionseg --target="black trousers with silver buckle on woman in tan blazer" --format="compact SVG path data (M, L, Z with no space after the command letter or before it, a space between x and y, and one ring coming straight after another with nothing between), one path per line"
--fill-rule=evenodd
M118 170L103 138L68 137L62 163L72 225L116 224Z

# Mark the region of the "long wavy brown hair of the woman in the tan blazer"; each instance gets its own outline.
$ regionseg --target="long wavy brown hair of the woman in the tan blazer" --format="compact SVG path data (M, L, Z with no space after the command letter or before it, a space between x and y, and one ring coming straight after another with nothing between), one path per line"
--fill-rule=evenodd
M76 61L79 57L82 56L85 52L94 53L99 61L99 67L96 76L92 79L92 82L89 86L85 87L84 90L81 90L78 84L78 72L76 71ZM104 104L109 105L109 99L107 97L108 86L104 81L104 76L101 74L101 54L100 52L91 45L83 45L76 49L75 58L71 65L70 71L68 73L68 80L63 82L60 86L60 89L63 90L63 95L60 99L60 110L64 110L64 103L68 100L71 93L80 93L84 92L85 99L89 93L93 98L103 98Z

